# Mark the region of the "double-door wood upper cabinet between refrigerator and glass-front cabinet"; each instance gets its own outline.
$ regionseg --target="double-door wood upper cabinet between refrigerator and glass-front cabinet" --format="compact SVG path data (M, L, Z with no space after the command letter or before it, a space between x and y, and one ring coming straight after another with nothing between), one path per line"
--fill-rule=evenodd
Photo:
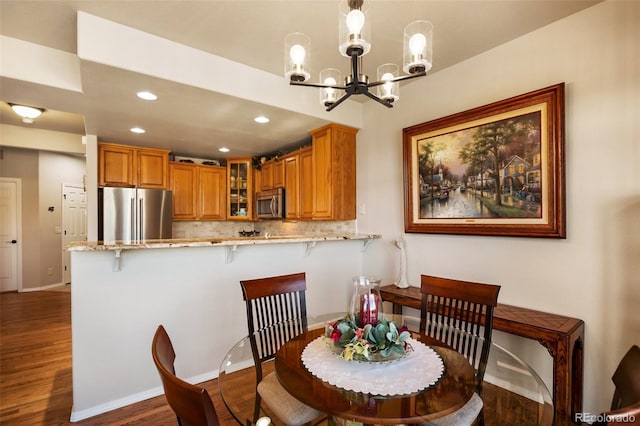
M174 220L224 220L227 169L170 163Z

